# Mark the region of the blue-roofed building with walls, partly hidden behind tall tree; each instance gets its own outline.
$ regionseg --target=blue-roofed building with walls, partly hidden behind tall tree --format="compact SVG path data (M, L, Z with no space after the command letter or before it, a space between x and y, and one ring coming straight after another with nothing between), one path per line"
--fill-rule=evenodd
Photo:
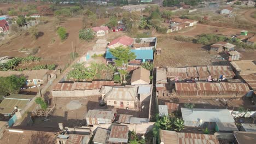
M141 62L153 61L154 59L154 50L131 50L136 55L136 60ZM106 57L108 62L114 62L116 59L112 53L110 53L109 49L107 49Z

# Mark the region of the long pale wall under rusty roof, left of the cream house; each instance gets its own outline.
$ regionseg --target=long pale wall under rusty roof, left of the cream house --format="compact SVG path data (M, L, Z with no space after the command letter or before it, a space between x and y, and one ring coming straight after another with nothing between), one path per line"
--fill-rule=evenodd
M53 97L89 97L92 95L100 95L100 89L85 90L85 91L51 91Z

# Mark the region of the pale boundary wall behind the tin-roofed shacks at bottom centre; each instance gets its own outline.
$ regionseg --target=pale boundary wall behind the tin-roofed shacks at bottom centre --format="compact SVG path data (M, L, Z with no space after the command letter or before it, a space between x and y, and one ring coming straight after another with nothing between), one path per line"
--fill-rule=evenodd
M110 130L111 125L114 125L114 124L112 124L112 123L94 124L94 126L91 127L91 130L94 131L97 127ZM148 123L142 123L142 124L117 124L117 125L127 125L129 127L129 130L135 131L136 134L146 134L148 131L153 129L154 122L148 122Z

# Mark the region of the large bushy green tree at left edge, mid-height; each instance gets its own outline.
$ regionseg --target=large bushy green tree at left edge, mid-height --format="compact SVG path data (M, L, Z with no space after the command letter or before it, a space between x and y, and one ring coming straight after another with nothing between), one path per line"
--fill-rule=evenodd
M24 76L0 77L0 95L16 94L22 86L25 86L26 78Z

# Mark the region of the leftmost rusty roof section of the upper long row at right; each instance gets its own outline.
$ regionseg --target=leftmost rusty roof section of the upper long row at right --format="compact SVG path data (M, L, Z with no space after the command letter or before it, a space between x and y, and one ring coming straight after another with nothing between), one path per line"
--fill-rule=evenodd
M187 78L186 68L167 68L167 77L181 77L182 79Z

